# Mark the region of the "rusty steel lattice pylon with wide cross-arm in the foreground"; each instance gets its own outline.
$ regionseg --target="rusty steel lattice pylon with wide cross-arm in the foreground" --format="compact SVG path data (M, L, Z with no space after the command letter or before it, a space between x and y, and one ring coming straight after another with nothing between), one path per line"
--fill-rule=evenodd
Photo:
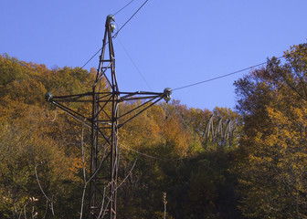
M73 118L82 121L91 129L90 135L90 189L89 218L116 219L116 193L118 189L119 147L118 132L124 124L147 110L161 99L170 99L171 89L164 92L122 92L116 73L115 56L112 43L114 30L113 16L107 16L99 67L90 92L68 96L46 94L46 99L66 111ZM109 56L108 56L109 55ZM110 91L101 91L106 83ZM143 99L132 110L119 114L119 104L131 100ZM82 115L70 109L65 102L86 102L91 104L91 113ZM106 169L107 168L107 169ZM109 169L109 170L108 170Z

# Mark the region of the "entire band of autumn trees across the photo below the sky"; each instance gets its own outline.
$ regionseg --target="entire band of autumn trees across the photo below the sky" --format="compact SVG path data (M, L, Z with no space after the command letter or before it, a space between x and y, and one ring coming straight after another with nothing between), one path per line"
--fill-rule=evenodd
M164 218L166 194L166 218L307 218L304 47L236 81L237 112L174 100L127 123L117 217ZM94 75L0 56L0 218L80 217L90 130L44 96L89 91Z

